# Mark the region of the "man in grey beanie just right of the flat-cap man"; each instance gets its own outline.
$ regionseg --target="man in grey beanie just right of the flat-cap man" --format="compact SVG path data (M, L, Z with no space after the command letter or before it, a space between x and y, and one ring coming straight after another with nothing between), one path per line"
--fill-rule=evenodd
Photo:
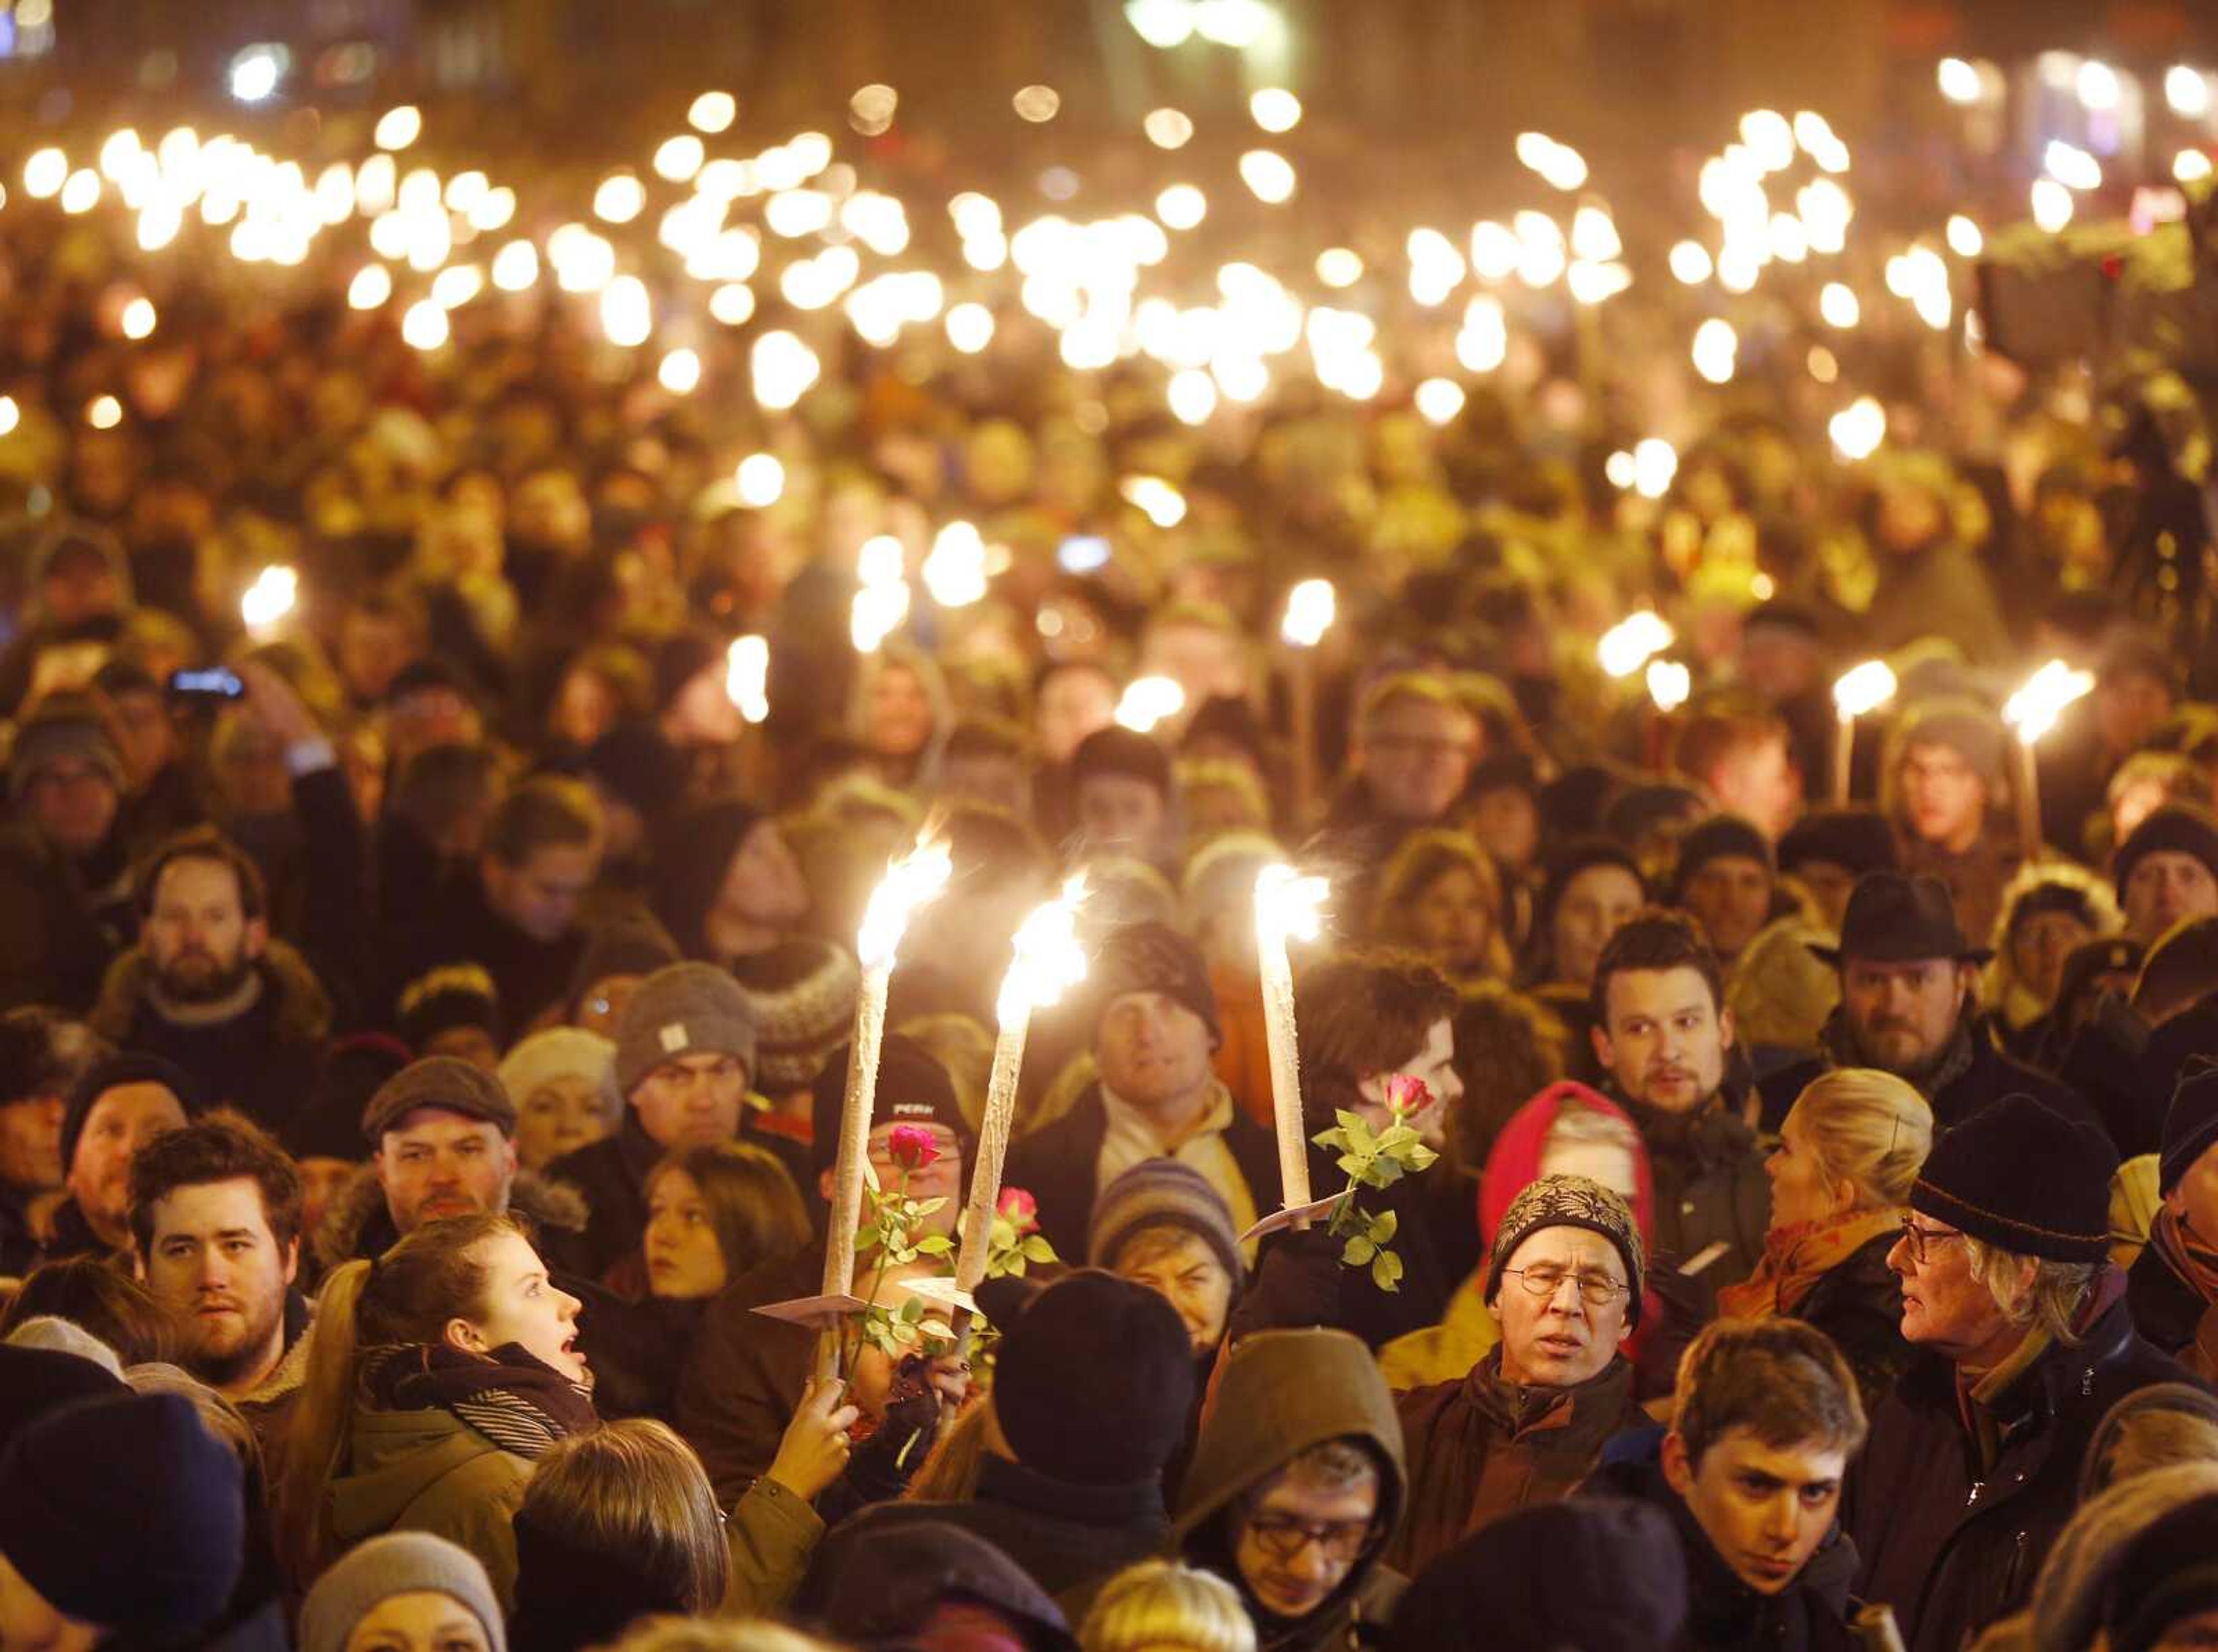
M714 965L670 965L641 982L617 1020L617 1089L623 1124L548 1164L586 1195L590 1215L577 1255L599 1279L639 1248L648 1231L648 1173L665 1153L739 1138L754 1073L754 1011Z

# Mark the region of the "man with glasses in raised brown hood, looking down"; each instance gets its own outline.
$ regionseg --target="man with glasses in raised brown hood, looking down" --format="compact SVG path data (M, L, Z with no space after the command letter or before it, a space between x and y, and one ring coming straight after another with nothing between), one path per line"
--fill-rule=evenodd
M1224 1362L1173 1532L1240 1590L1258 1645L1369 1645L1404 1579L1380 1563L1402 1515L1402 1424L1344 1330L1260 1330Z

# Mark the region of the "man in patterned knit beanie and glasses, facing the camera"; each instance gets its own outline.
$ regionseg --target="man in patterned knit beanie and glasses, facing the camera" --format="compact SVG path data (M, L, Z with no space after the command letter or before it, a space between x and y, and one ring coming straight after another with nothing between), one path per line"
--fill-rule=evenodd
M1502 1515L1568 1497L1612 1435L1646 1426L1621 1353L1644 1268L1632 1211L1599 1182L1544 1175L1510 1202L1486 1262L1502 1342L1464 1379L1395 1395L1411 1488L1391 1566L1413 1574Z

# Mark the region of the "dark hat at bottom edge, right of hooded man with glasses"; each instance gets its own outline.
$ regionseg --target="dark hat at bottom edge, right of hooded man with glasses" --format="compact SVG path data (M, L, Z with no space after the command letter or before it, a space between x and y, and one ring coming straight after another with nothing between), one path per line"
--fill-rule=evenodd
M1522 1508L1442 1550L1395 1608L1388 1652L1650 1652L1686 1623L1686 1552L1655 1503Z

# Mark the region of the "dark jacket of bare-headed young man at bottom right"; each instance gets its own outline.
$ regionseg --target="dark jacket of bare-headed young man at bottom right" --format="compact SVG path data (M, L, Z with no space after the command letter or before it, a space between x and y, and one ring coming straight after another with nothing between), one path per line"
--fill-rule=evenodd
M1777 1594L1759 1594L1710 1543L1686 1499L1664 1479L1664 1430L1626 1435L1579 1495L1630 1497L1670 1517L1686 1552L1686 1628L1672 1652L1852 1652L1848 1585L1856 1577L1856 1546L1834 1526Z

